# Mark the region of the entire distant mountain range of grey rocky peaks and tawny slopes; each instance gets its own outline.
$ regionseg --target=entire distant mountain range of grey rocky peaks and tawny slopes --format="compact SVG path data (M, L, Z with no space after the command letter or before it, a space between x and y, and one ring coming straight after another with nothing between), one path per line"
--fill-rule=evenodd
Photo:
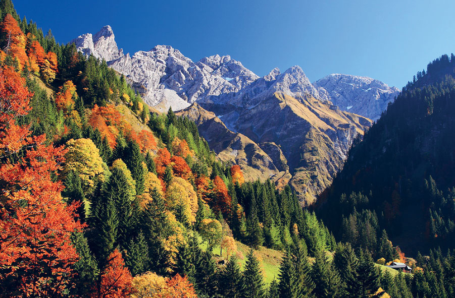
M125 75L150 106L184 109L180 114L198 123L220 158L239 164L247 177L289 183L307 204L331 183L356 136L399 94L350 75L312 84L298 66L259 77L229 55L193 62L166 45L131 56L118 48L110 26L71 42Z

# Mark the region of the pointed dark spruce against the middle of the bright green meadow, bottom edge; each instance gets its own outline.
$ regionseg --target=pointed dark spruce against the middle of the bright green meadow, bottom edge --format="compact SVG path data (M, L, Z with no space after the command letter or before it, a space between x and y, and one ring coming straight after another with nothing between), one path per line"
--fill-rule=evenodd
M243 270L242 297L245 298L265 298L264 278L259 268L259 262L251 249L246 256L245 269Z

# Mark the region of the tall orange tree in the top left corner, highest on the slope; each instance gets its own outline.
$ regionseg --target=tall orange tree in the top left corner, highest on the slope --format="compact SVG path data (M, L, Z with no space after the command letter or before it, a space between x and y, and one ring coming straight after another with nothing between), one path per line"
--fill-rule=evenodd
M22 70L24 66L28 66L28 57L25 53L25 35L21 28L10 14L6 15L2 23L2 32L5 36L7 43L7 54L11 54L17 59L19 63L19 70Z

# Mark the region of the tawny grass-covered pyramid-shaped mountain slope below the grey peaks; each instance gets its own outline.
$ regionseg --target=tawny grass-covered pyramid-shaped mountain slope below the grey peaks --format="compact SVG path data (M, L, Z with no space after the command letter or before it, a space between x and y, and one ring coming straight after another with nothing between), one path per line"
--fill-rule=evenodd
M212 104L211 108L224 106ZM270 143L276 144L292 174L290 185L306 204L331 183L352 141L372 124L368 118L342 112L311 96L296 99L283 93L219 117L230 130L247 136L266 152L272 149Z

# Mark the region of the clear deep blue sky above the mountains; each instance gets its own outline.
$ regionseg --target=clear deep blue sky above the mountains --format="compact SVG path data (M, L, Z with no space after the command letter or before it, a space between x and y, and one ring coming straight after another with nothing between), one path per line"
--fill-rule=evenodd
M14 1L14 0L13 0ZM171 45L193 61L229 54L264 76L299 65L311 81L331 73L401 88L443 53L455 52L455 1L30 1L21 17L58 42L111 25L125 52Z

